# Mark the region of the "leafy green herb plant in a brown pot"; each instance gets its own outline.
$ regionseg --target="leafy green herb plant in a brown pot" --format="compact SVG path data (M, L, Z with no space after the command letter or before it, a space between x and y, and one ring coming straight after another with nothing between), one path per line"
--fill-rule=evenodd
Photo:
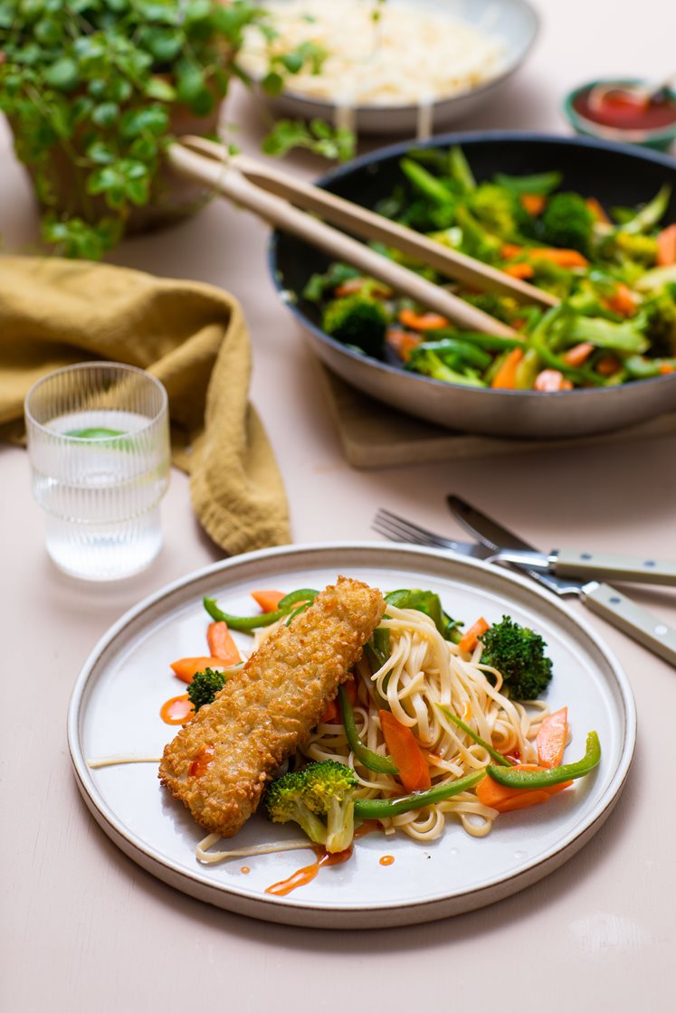
M100 258L126 232L164 224L199 202L162 152L180 134L213 135L244 34L274 34L249 0L0 0L0 110L43 210L44 238L67 256ZM277 56L262 84L283 87L313 47ZM291 143L333 155L348 139L278 125Z

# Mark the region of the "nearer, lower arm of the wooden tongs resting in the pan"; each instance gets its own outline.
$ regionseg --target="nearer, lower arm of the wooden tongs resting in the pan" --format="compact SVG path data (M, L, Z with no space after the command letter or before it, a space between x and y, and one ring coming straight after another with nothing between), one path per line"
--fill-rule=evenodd
M178 142L169 145L166 157L181 175L204 183L242 208L252 211L276 228L291 232L310 245L319 247L331 257L354 264L365 275L377 278L395 292L410 296L416 302L447 317L458 327L499 337L519 337L512 327L454 296L442 286L428 282L359 240L261 189L246 179L234 164L205 157Z

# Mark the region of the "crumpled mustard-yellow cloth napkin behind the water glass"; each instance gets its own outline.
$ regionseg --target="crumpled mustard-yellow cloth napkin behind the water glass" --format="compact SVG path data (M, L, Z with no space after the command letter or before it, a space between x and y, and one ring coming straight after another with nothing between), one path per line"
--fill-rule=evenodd
M35 380L87 360L129 363L169 396L173 463L228 553L290 541L272 448L248 403L251 357L232 296L199 282L58 257L0 257L0 439L23 436Z

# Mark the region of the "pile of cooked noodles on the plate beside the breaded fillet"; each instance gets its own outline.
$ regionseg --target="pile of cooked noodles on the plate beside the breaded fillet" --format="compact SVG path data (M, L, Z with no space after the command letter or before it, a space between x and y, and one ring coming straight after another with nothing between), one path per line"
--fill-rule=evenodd
M534 737L548 713L541 701L516 703L500 692L501 674L480 664L480 645L469 660L445 640L422 612L387 606L381 629L389 631L390 656L371 674L358 666L355 720L362 742L373 752L387 750L378 711L385 705L411 729L430 762L433 785L455 781L492 762L486 750L458 728L437 706L442 704L501 753L522 763L537 762ZM336 760L355 770L363 798L401 794L398 781L368 770L352 754L343 725L319 724L303 750L308 760ZM383 821L386 833L401 830L417 841L433 841L454 813L473 837L490 833L497 813L465 791L445 801Z

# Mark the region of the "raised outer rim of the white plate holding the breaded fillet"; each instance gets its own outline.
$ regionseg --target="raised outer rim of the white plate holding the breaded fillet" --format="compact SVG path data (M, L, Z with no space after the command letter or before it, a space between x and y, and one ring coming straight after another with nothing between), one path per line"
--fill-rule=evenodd
M124 632L125 628L164 598L173 595L175 592L192 583L199 583L208 579L216 573L227 573L230 570L236 570L242 564L255 563L260 560L267 561L268 559L274 560L284 558L285 556L308 556L310 557L308 565L311 565L311 557L315 554L325 554L328 552L329 554L340 555L347 550L382 553L383 560L372 560L368 564L371 566L378 566L381 562L385 562L386 564L387 557L393 556L395 560L398 558L405 560L406 557L422 556L423 559L446 560L454 564L459 564L461 568L466 567L469 572L472 569L487 572L489 576L494 579L504 580L508 586L511 583L516 585L523 589L527 596L532 596L536 602L539 600L546 608L553 609L554 613L558 613L567 623L572 623L578 627L588 641L594 644L595 649L600 652L605 663L609 666L615 680L616 689L619 691L621 711L624 718L624 733L618 749L615 768L603 795L591 812L588 813L583 826L580 827L577 824L570 828L567 834L555 843L554 850L544 858L535 858L517 872L507 872L500 876L500 878L494 879L489 883L469 888L462 887L460 890L454 890L453 892L446 893L444 897L433 897L427 900L403 902L393 900L376 904L370 903L366 907L353 904L336 908L312 902L304 902L302 899L298 900L290 897L284 899L268 898L265 894L261 897L251 897L233 888L231 885L222 882L210 882L207 878L206 870L203 871L200 868L196 868L195 872L189 873L171 864L170 860L168 862L162 860L164 857L162 853L158 849L153 849L152 846L149 846L137 834L130 833L129 828L127 828L122 820L117 817L116 813L102 797L91 776L91 770L87 767L79 742L80 718L83 713L84 697L89 679L94 673L96 665L105 649L115 642L117 637ZM317 565L321 566L322 563L317 563ZM635 751L636 709L631 685L623 667L614 652L606 645L605 641L602 638L599 639L596 630L585 619L571 613L566 608L565 603L556 596L535 586L528 577L506 571L503 567L495 566L481 560L462 556L458 553L446 552L445 550L416 545L401 545L398 543L389 544L376 541L350 540L274 546L254 552L242 553L241 555L219 560L191 571L146 596L142 601L128 609L107 628L103 635L98 638L82 665L70 697L67 736L76 783L90 813L112 843L127 857L131 858L156 878L191 897L215 905L218 908L235 914L261 919L267 922L310 928L368 929L373 928L373 919L379 915L385 919L387 927L395 927L431 922L476 910L477 908L503 900L537 882L562 865L569 858L572 858L605 823L619 799L629 774ZM280 903L281 901L282 903Z

